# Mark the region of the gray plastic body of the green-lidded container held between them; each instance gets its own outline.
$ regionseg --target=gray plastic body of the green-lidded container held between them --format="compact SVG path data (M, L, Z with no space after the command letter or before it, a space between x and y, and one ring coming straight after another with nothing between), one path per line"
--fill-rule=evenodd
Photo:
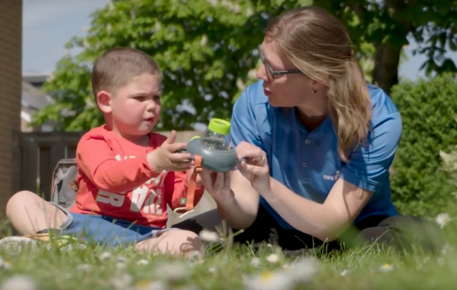
M233 148L230 151L211 149L201 144L200 138L189 141L186 150L182 151L199 155L201 166L214 172L228 172L238 163L238 157Z

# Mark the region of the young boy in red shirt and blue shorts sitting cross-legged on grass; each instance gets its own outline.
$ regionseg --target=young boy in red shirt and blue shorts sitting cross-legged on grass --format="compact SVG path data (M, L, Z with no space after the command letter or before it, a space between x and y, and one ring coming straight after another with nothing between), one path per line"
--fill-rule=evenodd
M92 87L106 124L86 133L76 149L78 192L70 212L33 192L11 197L6 214L21 234L58 229L100 244L135 244L171 254L199 250L194 232L166 229L167 204L186 197L193 161L186 143L151 133L161 109L161 70L131 48L106 51L95 63ZM197 177L194 204L204 193Z

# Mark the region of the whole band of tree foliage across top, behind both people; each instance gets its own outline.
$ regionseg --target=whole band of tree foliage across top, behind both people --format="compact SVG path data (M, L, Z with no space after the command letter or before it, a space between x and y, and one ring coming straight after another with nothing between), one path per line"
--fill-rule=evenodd
M421 43L419 52L429 57L424 65L427 71L456 69L443 58L443 48L455 49L457 44L452 33L456 31L457 12L451 8L455 2L321 0L314 4L346 24L366 73L389 92L398 81L398 61L408 33ZM229 118L233 100L255 81L256 48L268 19L309 4L313 1L112 1L91 14L86 37L71 38L67 44L69 49L82 51L59 61L54 78L44 86L56 104L36 114L34 123L54 120L61 130L86 130L101 123L91 93L91 63L114 46L145 51L163 69L161 130L191 129L214 116Z

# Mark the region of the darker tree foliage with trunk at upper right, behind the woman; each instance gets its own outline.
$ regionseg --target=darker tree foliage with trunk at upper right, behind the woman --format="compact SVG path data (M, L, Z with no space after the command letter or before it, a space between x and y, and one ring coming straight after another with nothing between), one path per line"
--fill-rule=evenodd
M373 45L376 65L372 78L387 93L398 83L398 65L403 47L409 44L408 36L418 43L413 54L427 56L421 64L427 76L457 71L446 56L446 48L457 51L456 0L323 0L316 1L316 5L342 19L353 40Z

